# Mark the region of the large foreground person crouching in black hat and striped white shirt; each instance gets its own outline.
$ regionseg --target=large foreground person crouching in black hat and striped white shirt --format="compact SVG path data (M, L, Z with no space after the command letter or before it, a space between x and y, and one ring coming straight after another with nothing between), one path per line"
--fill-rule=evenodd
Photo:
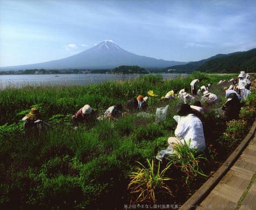
M175 129L175 137L168 138L168 144L173 149L177 147L177 144L182 145L184 142L189 144L189 141L190 149L196 148L203 151L206 148L202 122L191 112L188 104L177 105L177 114L182 117Z

